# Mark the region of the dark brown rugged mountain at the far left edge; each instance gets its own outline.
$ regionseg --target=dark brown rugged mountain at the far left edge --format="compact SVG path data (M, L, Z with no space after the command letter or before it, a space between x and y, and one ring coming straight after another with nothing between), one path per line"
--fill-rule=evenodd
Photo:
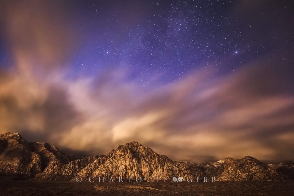
M34 177L52 162L61 164L78 159L48 143L27 142L18 133L0 135L0 174Z

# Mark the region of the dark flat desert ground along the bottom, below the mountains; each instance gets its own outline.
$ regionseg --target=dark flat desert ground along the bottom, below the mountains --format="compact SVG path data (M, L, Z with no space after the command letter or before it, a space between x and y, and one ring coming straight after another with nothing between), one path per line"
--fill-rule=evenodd
M0 196L6 195L294 195L294 182L132 182L99 183L35 181L0 177Z

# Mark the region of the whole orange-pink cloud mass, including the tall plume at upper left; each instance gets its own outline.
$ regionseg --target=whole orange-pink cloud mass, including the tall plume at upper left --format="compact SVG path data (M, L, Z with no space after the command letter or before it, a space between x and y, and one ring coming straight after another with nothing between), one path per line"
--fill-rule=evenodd
M0 132L91 155L138 141L174 160L294 158L287 66L197 70L163 87L129 81L122 69L67 79L67 61L80 44L66 25L70 15L52 2L12 5L2 13L15 69L0 68Z

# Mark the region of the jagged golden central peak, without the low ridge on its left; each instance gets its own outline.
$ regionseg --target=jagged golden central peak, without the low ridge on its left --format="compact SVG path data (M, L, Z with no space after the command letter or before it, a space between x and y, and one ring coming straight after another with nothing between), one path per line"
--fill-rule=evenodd
M173 162L165 155L158 155L151 148L144 147L138 142L130 142L117 147L104 157L95 160L85 167L79 176L105 176L110 178L121 176L123 179L135 180L136 177L150 177L154 181L164 177L203 176L202 167L197 164Z

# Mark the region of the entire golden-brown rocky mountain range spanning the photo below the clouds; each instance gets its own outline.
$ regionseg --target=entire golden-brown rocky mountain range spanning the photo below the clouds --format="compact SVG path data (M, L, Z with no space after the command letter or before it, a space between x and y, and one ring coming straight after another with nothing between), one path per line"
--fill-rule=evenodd
M150 181L173 176L190 177L199 181L203 177L218 181L230 180L291 180L293 162L265 165L253 157L230 157L218 162L172 161L138 142L118 146L106 155L77 157L61 152L48 143L27 142L20 134L0 135L0 174L35 177L36 180L74 180L103 176L105 179L122 177L135 180L150 177ZM292 173L291 173L292 172ZM146 178L145 178L146 180Z

